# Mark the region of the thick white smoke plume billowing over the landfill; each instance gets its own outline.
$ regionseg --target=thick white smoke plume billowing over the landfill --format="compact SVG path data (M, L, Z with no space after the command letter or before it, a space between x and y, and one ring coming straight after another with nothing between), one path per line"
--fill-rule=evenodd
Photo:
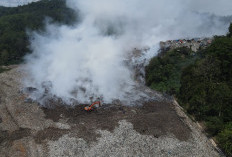
M223 13L218 1L206 2L67 0L81 22L75 26L47 24L47 33L33 33L33 53L26 57L30 79L25 85L37 88L40 96L45 91L67 103L70 99L86 103L91 97L107 103L129 99L136 84L130 58L134 48L150 47L144 56L151 57L161 40L226 33L229 23L218 16ZM221 2L225 8L232 4Z

